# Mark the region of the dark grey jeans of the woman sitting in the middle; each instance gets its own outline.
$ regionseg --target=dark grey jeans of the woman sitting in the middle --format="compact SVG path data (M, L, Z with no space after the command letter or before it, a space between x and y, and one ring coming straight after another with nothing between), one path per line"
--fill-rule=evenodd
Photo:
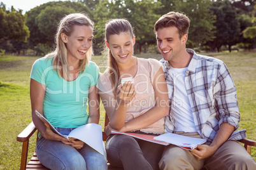
M122 134L111 134L106 140L106 152L111 166L128 170L159 169L163 150L164 145Z

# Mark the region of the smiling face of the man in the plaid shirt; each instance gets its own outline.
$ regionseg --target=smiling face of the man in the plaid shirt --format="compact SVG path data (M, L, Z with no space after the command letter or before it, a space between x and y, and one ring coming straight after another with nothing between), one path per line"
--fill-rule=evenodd
M162 54L164 60L175 62L185 50L187 34L179 37L176 27L166 27L156 31L157 48Z

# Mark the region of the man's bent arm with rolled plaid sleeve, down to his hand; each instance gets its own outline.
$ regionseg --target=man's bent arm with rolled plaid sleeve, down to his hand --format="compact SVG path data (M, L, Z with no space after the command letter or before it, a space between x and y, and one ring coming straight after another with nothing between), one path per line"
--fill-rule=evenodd
M220 121L218 122L220 129L218 129L218 133L210 146L198 145L196 149L191 151L199 160L215 154L218 148L229 139L231 134L239 126L240 114L238 100L236 99L236 87L224 63L222 63L218 72L215 87L217 87L217 93L215 94L214 100L217 101L218 111L221 114Z

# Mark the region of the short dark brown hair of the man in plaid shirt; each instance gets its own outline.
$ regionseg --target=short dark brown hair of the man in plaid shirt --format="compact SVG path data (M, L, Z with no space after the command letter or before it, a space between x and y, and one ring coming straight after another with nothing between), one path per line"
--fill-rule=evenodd
M189 23L190 19L185 14L171 11L161 16L159 20L155 22L153 31L156 33L159 29L176 27L181 39L182 36L188 34Z

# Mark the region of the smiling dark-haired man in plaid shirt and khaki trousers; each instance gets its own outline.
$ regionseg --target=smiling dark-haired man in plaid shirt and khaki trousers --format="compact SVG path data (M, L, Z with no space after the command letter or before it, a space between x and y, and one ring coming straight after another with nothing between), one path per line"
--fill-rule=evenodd
M235 131L240 114L231 74L222 61L186 49L189 23L187 16L170 12L154 27L169 91L164 128L207 142L191 151L168 145L160 169L256 169L255 160L234 141L246 131Z

